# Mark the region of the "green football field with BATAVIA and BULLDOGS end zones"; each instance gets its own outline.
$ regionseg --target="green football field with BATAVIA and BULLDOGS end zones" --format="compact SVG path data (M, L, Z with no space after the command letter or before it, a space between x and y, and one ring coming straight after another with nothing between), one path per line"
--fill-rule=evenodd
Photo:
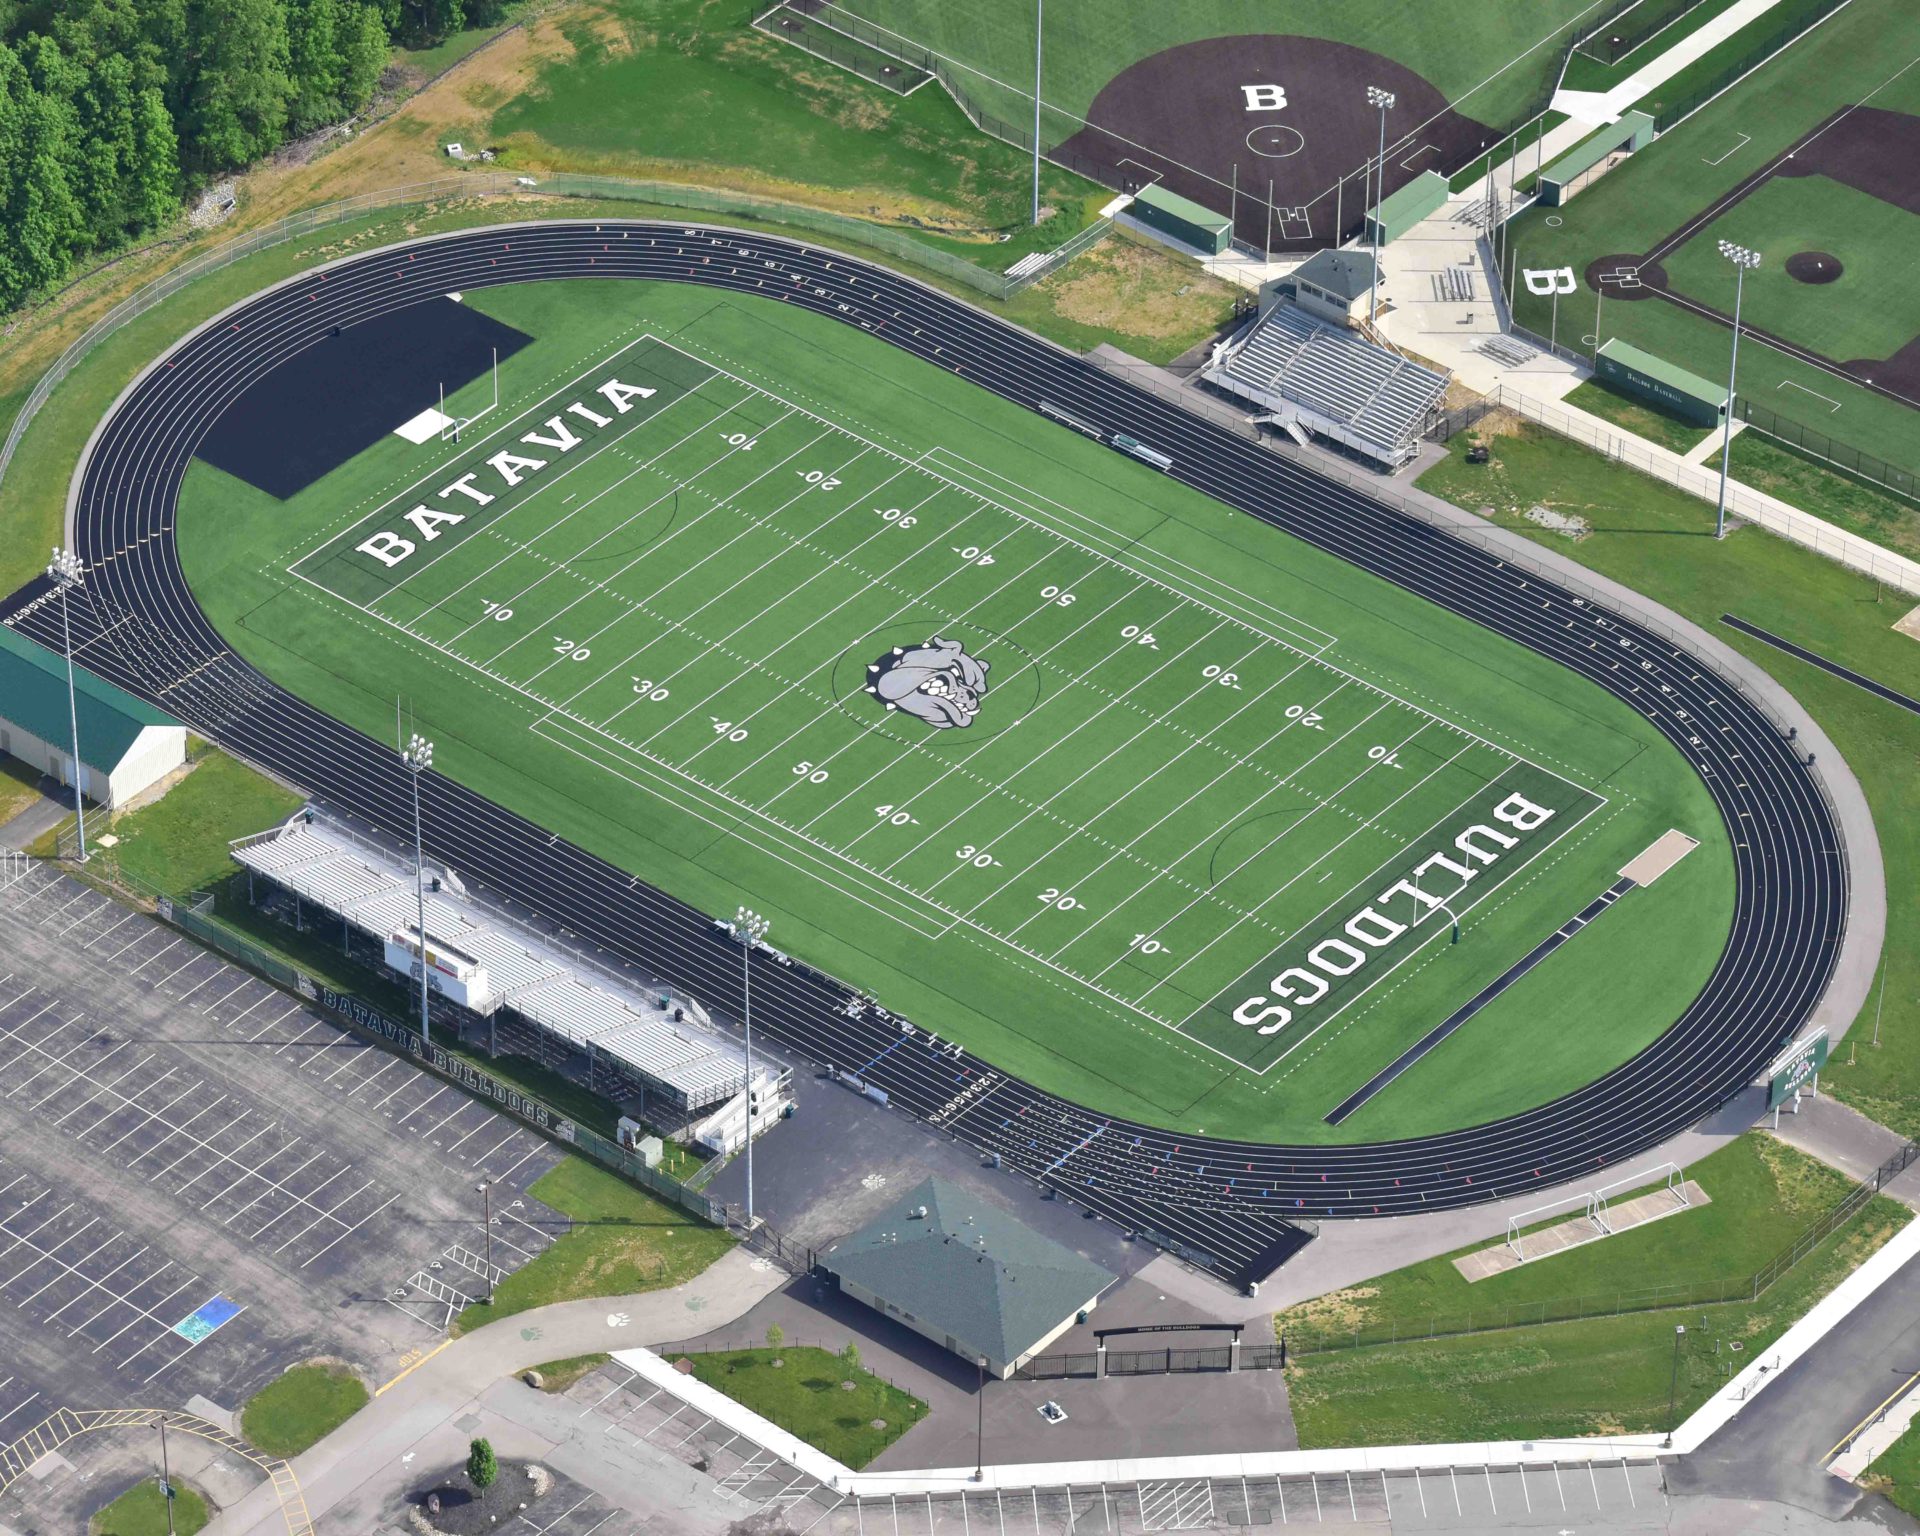
M966 924L1242 1066L1605 803L1311 624L657 338L486 424L292 574L877 920ZM1236 1021L1288 966L1327 995Z

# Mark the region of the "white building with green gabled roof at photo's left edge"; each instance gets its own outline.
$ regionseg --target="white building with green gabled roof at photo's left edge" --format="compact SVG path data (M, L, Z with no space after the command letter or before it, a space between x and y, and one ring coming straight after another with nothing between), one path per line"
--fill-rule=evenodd
M81 793L109 810L186 762L186 726L84 666L73 668L73 714L81 728ZM0 753L73 783L67 662L6 624L0 624Z

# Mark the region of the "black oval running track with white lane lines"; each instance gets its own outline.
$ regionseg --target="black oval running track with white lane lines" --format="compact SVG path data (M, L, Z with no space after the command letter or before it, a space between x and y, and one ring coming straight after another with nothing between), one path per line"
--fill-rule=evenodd
M555 223L449 234L309 275L179 346L113 411L88 459L75 541L84 660L196 730L396 835L409 829L392 749L282 693L232 657L180 576L180 474L207 426L265 371L422 294L495 282L632 276L699 282L860 326L935 367L1037 409L1050 401L1175 457L1173 474L1250 516L1465 614L1594 680L1645 714L1699 770L1732 829L1732 933L1682 1018L1599 1081L1501 1121L1359 1146L1187 1137L1092 1114L924 1031L849 1012L849 991L756 954L762 1027L789 1048L858 1068L889 1100L1083 1206L1148 1229L1231 1279L1267 1273L1302 1217L1465 1206L1569 1179L1692 1125L1747 1083L1811 1016L1845 924L1832 810L1780 730L1672 639L1498 553L1319 478L964 303L833 252L678 225ZM52 645L44 580L12 622ZM737 1010L739 952L710 914L666 897L438 776L422 783L426 845L465 877L591 943Z

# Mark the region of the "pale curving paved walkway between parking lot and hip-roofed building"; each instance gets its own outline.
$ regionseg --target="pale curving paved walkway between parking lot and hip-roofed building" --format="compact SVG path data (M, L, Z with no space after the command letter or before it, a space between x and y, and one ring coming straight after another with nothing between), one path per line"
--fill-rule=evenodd
M705 1273L672 1290L561 1302L503 1317L442 1344L380 1386L367 1407L319 1446L294 1457L294 1473L315 1526L376 1530L371 1524L330 1524L326 1515L336 1505L367 1515L386 1509L419 1476L420 1467L436 1457L463 1453L468 1430L459 1421L476 1411L501 1377L549 1359L659 1344L684 1338L689 1329L720 1327L747 1313L785 1279L785 1271L774 1269L766 1260L733 1248ZM538 1446L532 1452L522 1448L513 1436L503 1436L497 1450L503 1455L545 1453ZM574 1467L563 1471L595 1486ZM207 1524L207 1536L286 1536L273 1490L261 1484L223 1511Z

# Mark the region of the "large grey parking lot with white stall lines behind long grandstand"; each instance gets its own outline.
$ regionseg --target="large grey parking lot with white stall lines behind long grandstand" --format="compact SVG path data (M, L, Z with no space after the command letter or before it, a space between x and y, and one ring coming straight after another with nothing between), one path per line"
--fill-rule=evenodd
M384 1380L564 1227L549 1142L48 866L0 956L0 1440L311 1356Z

